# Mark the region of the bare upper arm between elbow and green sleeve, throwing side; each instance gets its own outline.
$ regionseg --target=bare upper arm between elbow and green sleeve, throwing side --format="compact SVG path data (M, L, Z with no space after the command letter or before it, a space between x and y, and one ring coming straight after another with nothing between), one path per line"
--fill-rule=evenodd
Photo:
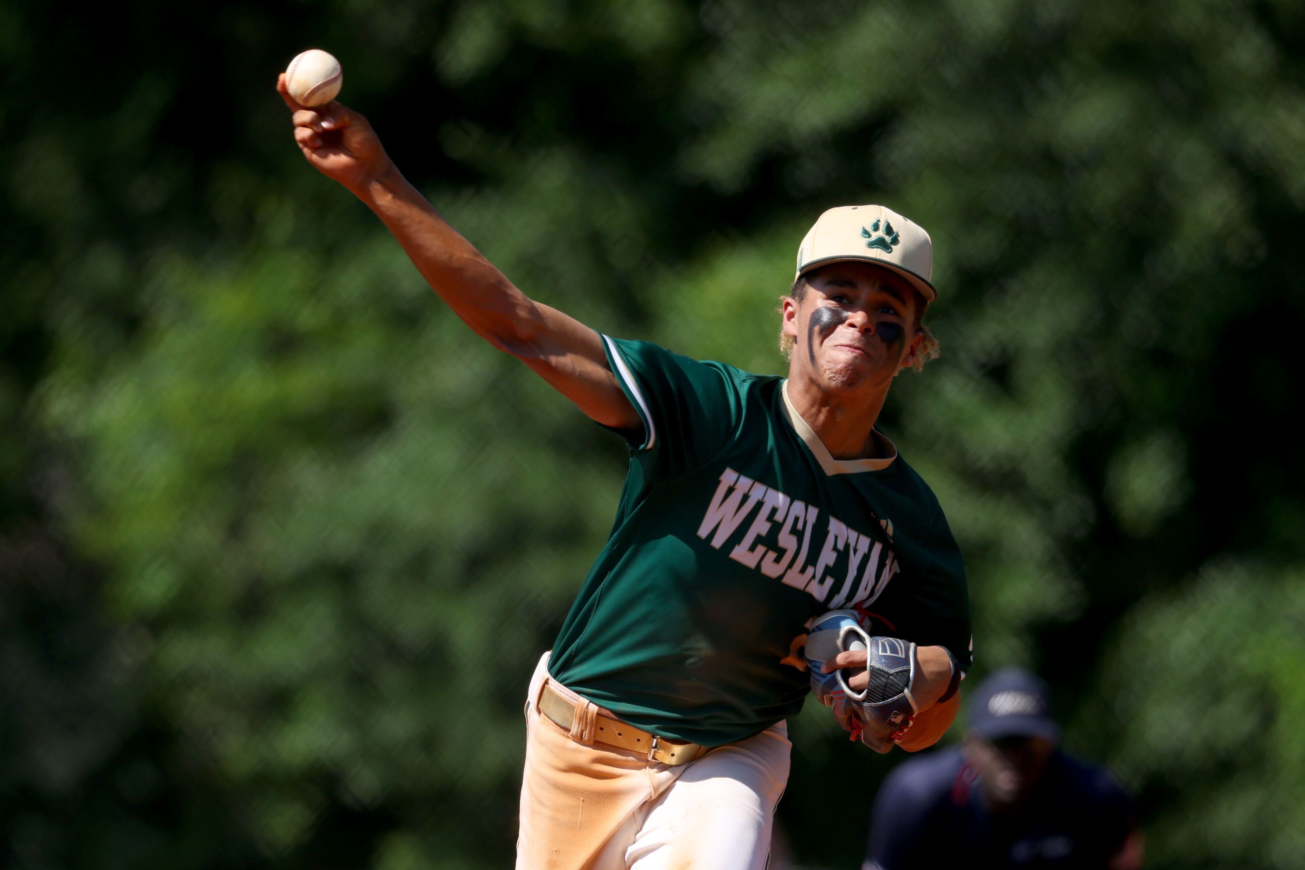
M574 317L534 303L531 323L518 342L501 342L591 420L613 429L642 427L634 406L607 364L603 338Z

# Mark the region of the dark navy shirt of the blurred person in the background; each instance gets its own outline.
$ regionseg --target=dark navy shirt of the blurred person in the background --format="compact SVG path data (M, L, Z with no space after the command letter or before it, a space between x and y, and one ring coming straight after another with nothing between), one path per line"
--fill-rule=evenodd
M988 811L959 749L902 763L880 789L865 870L1105 867L1133 832L1133 803L1103 768L1056 751L1018 810Z

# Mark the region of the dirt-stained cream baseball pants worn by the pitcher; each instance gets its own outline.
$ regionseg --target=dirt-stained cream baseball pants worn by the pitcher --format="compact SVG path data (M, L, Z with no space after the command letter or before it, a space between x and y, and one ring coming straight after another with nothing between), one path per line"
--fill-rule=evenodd
M542 716L547 668L544 653L526 702L517 870L763 870L788 781L784 723L669 767Z

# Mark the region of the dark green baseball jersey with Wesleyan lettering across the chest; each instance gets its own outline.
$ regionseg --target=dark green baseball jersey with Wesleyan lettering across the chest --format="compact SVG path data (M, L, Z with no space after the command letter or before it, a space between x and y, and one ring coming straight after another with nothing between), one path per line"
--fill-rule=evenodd
M859 608L872 634L968 668L960 550L887 438L886 459L837 460L783 380L603 343L643 428L621 433L625 490L555 680L654 734L719 746L801 708L795 639L827 610Z

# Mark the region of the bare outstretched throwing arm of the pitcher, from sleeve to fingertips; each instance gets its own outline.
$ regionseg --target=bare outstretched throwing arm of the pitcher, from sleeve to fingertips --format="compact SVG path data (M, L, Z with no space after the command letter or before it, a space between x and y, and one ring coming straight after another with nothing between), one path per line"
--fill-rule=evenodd
M399 173L365 117L338 102L300 106L287 93L284 74L277 90L294 112L295 142L308 162L376 213L476 335L522 360L592 420L616 429L642 425L598 333L534 301L495 269Z

